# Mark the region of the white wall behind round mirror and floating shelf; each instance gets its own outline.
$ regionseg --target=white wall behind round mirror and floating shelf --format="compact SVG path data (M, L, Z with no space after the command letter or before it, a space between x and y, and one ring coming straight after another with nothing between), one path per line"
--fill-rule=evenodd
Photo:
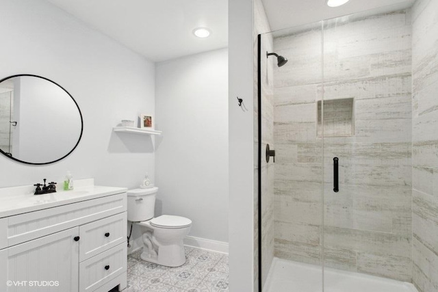
M153 140L112 132L122 119L154 112L152 62L46 1L1 1L0 34L8 40L0 47L0 77L29 73L55 81L84 120L79 146L62 161L35 166L1 155L0 187L62 181L67 170L120 187L136 187L145 172L154 178Z

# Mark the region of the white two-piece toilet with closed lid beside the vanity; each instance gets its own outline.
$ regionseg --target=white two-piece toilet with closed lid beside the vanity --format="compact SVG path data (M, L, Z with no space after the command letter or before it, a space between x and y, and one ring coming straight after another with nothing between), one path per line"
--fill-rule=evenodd
M183 239L192 227L192 220L173 215L155 216L155 197L158 187L129 189L128 220L144 231L144 261L167 267L179 267L185 263Z

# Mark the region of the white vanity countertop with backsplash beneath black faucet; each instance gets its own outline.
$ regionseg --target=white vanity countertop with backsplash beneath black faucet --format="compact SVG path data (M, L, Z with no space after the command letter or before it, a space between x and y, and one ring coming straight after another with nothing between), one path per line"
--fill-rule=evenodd
M127 191L125 187L94 185L92 178L75 181L75 189L71 191L63 191L62 185L59 184L57 185L58 188L61 190L44 195L34 195L35 187L33 185L0 188L0 218L92 200Z

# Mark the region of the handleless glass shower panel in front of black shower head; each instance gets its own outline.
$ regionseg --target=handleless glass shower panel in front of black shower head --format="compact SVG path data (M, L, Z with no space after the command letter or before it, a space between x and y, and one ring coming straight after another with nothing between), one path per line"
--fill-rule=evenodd
M321 23L262 34L260 40L261 287L263 292L318 292L323 246L323 138L317 134L316 112L322 94ZM269 161L267 144L275 150Z

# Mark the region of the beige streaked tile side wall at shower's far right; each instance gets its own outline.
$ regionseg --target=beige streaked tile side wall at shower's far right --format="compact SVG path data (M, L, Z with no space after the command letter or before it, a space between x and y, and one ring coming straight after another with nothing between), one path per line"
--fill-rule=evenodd
M438 1L413 6L413 282L438 291Z

